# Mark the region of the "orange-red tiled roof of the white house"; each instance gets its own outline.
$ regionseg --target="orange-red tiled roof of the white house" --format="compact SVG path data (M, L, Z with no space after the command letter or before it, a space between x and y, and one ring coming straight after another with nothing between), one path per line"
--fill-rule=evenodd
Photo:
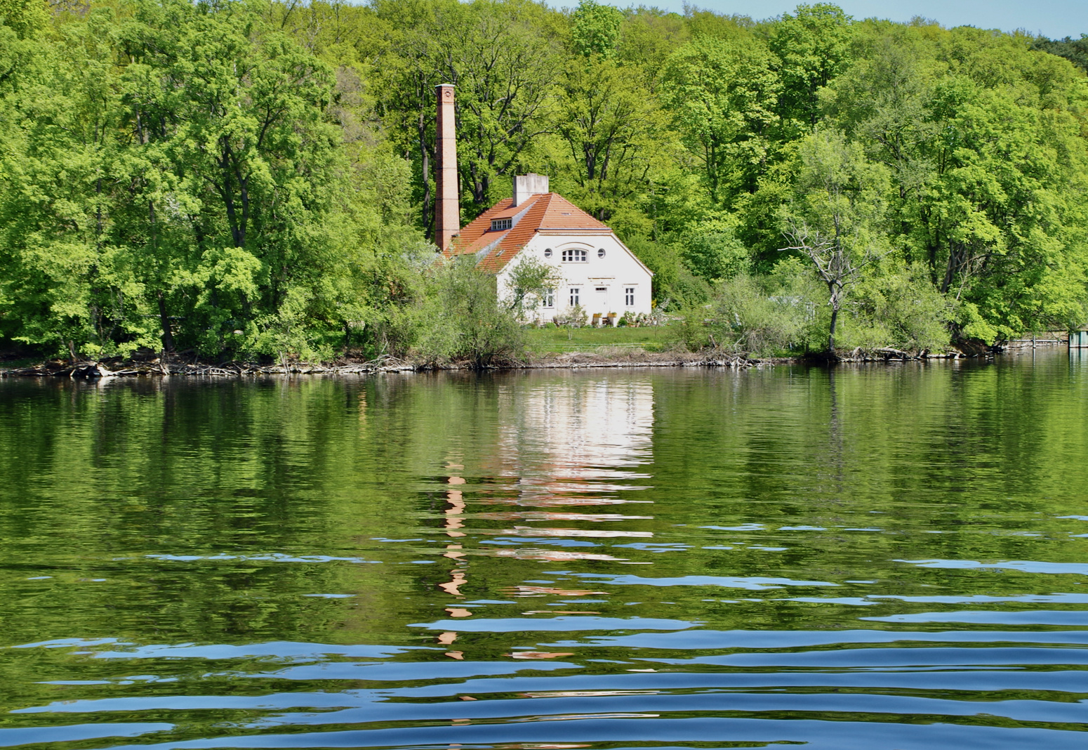
M454 237L447 257L480 254L477 268L498 273L537 232L545 234L610 234L611 230L558 193L534 195L514 206L499 200ZM508 230L492 230L493 219L514 219Z

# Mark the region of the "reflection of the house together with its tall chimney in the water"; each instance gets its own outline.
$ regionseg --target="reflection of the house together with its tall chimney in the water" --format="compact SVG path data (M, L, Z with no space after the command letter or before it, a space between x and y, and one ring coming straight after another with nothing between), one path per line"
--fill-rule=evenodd
M497 444L491 450L477 446L480 455L471 457L447 456L449 487L443 528L449 540L444 556L454 565L448 580L438 588L455 599L463 599L462 588L471 577L471 555L541 562L623 562L599 549L590 552L545 544L543 540L653 537L651 531L623 528L625 521L650 519L650 515L586 513L577 507L591 506L586 509L595 511L592 506L640 502L622 495L644 489L641 482L630 480L648 478L636 467L650 460L653 421L653 385L642 378L545 376L500 389ZM499 481L497 487L502 489L494 494L466 499L461 489L466 464L473 465L473 474L508 481ZM507 521L512 528L495 529L486 524L472 528L474 520ZM473 537L524 538L524 544L471 549L475 546L470 542ZM537 597L547 592L591 593L523 586L510 593ZM450 617L472 614L456 604L447 606L446 612ZM457 632L450 630L442 634L437 642L450 647L456 640ZM460 659L462 654L450 651L447 655Z

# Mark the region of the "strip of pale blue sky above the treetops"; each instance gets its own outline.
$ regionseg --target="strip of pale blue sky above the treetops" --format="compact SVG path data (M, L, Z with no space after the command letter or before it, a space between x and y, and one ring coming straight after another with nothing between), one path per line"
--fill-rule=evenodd
M553 2L556 7L573 5L573 2ZM626 8L622 1L609 4ZM638 4L638 3L633 3ZM664 10L683 12L684 0L659 0L646 3ZM702 0L689 4L714 11L715 13L739 13L753 19L768 19L789 13L798 4L796 0ZM842 0L836 3L855 19L890 19L910 21L915 15L938 21L942 26L978 26L1012 32L1024 28L1031 34L1043 34L1052 38L1073 37L1088 34L1088 3L1084 0Z

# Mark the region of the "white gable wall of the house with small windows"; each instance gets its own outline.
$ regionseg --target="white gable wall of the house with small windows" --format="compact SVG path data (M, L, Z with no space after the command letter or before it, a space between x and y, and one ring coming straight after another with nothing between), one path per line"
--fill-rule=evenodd
M546 256L546 250L552 256ZM585 250L585 261L564 261L562 251L570 249ZM599 251L604 250L604 257ZM539 306L535 318L551 320L554 316L568 310L571 305L571 291L578 290L578 303L585 310L590 320L595 312L603 316L615 312L621 317L625 312L639 313L651 311L651 278L650 270L643 266L616 237L607 235L548 235L537 234L498 274L499 297L510 294L510 271L524 257L531 257L542 263L555 267L562 278L562 283L555 290L554 306ZM628 290L633 290L633 304L629 305Z

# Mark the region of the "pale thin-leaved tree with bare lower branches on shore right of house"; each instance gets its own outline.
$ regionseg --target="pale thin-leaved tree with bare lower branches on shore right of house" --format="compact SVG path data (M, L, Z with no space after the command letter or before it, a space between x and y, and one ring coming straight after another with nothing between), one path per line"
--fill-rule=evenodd
M827 351L850 287L862 270L889 251L883 222L888 172L869 162L858 144L839 133L814 132L801 144L801 172L782 211L782 250L805 255L827 286L831 306Z

